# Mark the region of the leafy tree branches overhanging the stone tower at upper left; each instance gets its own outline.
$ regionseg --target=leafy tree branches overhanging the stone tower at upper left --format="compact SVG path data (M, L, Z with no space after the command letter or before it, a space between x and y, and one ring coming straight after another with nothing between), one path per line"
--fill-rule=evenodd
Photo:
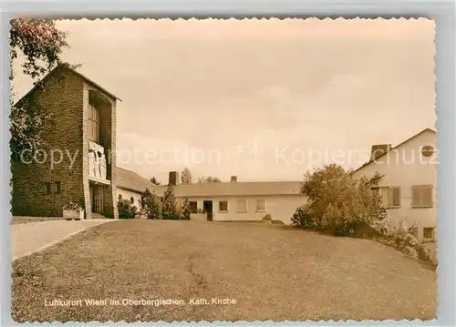
M49 19L21 19L11 21L10 64L11 72L11 157L19 159L24 149L32 151L44 145L43 135L47 132L48 121L51 118L41 110L39 103L20 101L14 105L14 69L13 63L18 56L25 60L21 67L23 73L32 78L37 87L43 89L39 78L43 77L56 65L71 66L64 63L60 55L68 47L67 33L59 31L54 21Z

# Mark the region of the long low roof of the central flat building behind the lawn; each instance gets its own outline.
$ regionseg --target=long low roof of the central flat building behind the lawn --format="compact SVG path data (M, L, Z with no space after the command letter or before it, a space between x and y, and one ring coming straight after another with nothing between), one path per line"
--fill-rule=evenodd
M227 197L227 196L266 196L299 195L300 181L253 181L181 184L174 187L176 197ZM167 186L155 187L161 195Z

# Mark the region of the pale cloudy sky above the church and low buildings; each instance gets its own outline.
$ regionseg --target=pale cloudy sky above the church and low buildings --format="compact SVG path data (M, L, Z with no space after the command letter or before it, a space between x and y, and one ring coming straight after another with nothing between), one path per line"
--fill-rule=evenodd
M121 99L118 166L162 182L356 169L435 126L432 20L63 20L62 57ZM25 95L32 81L16 73Z

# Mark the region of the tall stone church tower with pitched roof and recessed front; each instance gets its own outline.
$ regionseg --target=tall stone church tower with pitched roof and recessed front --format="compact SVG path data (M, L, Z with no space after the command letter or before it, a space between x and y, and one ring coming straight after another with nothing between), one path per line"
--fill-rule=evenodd
M71 201L85 209L86 219L117 218L119 98L67 66L54 68L41 86L18 102L36 104L51 121L46 146L12 162L13 214L61 217Z

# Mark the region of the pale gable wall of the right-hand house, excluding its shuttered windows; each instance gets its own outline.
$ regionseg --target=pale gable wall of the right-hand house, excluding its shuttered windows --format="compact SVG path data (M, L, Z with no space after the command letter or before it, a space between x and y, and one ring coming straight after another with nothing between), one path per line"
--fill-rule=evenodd
M355 172L354 176L372 176L376 171L385 175L379 186L400 187L400 208L388 209L389 219L395 222L415 222L423 228L436 227L437 215L437 171L436 155L426 158L421 155L421 147L431 145L435 148L436 135L425 132L409 142L378 158L378 163L371 163ZM432 208L411 208L411 187L413 185L433 185L434 205Z

